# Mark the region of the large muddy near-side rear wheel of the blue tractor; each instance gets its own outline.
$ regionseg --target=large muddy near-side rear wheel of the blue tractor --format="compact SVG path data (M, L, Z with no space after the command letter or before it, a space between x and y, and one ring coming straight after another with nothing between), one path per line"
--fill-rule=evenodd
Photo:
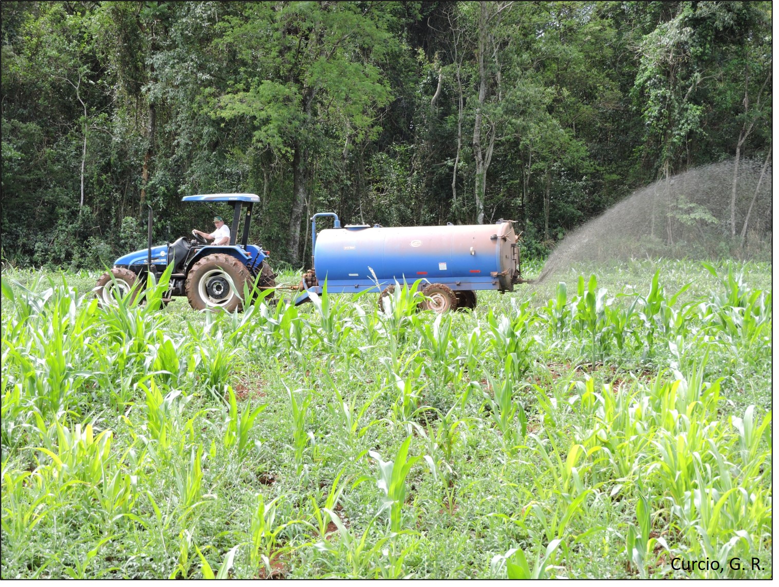
M244 285L252 283L249 269L234 256L204 256L187 274L185 290L194 309L243 309Z

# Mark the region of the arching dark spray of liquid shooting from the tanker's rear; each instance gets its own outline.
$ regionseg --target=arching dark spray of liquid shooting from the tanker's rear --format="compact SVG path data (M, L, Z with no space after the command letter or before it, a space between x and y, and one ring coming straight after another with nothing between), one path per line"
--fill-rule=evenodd
M770 162L739 162L735 193L734 175L735 161L722 161L637 189L569 232L537 281L582 262L658 256L770 259Z

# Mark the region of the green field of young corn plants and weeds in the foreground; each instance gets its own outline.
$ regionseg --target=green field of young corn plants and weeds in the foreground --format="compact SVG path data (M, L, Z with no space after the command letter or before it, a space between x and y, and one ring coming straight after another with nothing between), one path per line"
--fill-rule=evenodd
M2 578L773 574L767 264L445 316L101 309L96 278L2 274Z

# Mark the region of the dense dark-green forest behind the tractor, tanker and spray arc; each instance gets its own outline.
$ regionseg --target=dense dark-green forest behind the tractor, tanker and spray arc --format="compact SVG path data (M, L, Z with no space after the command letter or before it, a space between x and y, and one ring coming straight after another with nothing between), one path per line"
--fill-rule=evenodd
M101 267L262 197L306 219L520 222L530 253L632 189L771 150L770 2L3 2L2 257ZM731 219L731 234L743 218Z

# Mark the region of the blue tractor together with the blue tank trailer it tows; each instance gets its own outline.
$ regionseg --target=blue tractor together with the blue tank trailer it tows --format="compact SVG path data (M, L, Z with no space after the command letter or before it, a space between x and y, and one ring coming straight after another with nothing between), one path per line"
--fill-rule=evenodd
M320 294L326 283L330 293L379 292L381 307L397 284L421 280L425 307L443 313L474 308L478 291L511 292L515 284L527 281L520 274L519 237L513 221L500 220L494 225L342 226L337 214L323 212L311 218L312 267L298 285L279 286L268 263L270 253L262 245L249 244L252 207L259 203L259 196L220 193L185 196L183 201L230 204L234 208L230 242L215 246L195 234L195 239L182 237L168 245L152 246L150 209L147 248L119 257L111 271L100 276L95 287L100 302L111 304L116 294L138 292L150 274L157 278L171 265L165 302L173 296L186 296L195 309L227 311L241 309L245 285L249 289L256 285L260 291L294 290L294 304L299 305L308 301L312 292ZM320 217L333 217L333 228L317 234Z

